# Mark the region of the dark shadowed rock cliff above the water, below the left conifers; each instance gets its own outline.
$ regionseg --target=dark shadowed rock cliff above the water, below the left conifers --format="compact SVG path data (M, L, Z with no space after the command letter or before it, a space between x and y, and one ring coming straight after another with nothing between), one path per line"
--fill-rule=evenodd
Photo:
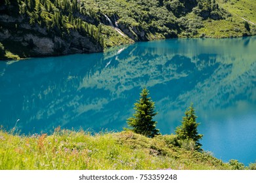
M0 15L0 24L0 42L22 58L103 51L99 42L77 30L60 36L49 32L46 27L29 24L22 16L15 18L7 14Z

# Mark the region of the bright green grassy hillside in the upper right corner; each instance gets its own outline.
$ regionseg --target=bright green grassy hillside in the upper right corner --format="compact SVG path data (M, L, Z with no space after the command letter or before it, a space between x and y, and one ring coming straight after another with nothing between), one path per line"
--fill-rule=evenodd
M252 0L216 0L219 7L228 12L225 20L206 20L200 34L207 37L243 37L256 33L256 1ZM249 28L246 28L248 22Z

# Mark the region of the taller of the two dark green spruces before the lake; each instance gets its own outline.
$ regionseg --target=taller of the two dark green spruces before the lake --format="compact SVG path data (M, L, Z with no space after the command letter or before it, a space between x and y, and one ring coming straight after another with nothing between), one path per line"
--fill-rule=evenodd
M151 97L148 97L149 91L144 88L140 93L140 99L135 103L134 117L127 119L127 124L133 127L135 133L145 135L146 137L154 137L159 135L159 129L156 129L156 124L153 117L158 114L154 111L154 102Z

